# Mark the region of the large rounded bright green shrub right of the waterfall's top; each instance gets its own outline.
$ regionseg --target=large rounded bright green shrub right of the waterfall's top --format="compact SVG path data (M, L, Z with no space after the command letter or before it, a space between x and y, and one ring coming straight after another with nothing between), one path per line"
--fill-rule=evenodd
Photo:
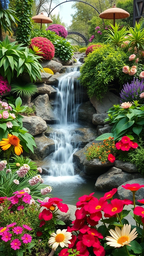
M80 81L87 88L89 97L95 95L97 99L101 99L112 81L117 86L126 82L128 78L122 72L122 67L127 63L128 55L122 49L103 45L87 56L80 68Z

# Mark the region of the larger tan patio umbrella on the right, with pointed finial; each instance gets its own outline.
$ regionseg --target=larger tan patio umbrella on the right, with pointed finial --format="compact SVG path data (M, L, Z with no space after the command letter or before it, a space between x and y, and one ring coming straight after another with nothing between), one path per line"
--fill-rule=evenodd
M105 10L104 12L100 13L99 15L102 19L114 19L114 26L115 26L115 19L124 19L129 17L129 13L121 8L117 8L116 5L112 6Z

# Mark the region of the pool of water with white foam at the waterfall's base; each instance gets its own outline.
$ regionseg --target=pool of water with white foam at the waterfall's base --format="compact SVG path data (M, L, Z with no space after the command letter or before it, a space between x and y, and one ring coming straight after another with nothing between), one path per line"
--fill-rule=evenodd
M65 204L76 205L78 198L95 192L98 199L106 193L105 190L95 189L95 179L84 179L79 175L74 176L47 176L43 175L45 184L52 186L53 197L63 199Z

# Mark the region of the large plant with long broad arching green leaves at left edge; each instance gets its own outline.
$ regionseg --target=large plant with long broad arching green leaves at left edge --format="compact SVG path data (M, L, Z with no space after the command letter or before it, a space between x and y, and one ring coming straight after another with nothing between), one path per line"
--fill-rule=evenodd
M0 41L0 73L7 78L8 83L22 73L28 73L31 81L41 79L40 70L43 68L38 59L40 57L34 55L31 49L16 41L10 42L8 36L3 42Z

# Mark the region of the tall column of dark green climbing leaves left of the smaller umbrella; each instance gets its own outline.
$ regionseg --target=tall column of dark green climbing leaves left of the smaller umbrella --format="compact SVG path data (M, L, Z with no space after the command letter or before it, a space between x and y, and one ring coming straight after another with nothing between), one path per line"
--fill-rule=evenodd
M27 45L30 44L32 26L32 5L33 0L17 0L16 13L20 22L16 30L17 41Z

